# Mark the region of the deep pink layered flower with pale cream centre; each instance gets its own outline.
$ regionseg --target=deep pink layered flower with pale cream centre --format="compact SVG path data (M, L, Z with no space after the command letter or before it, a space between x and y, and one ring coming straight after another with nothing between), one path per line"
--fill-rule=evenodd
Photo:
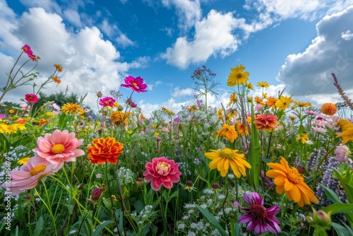
M152 163L146 164L146 170L143 172L145 182L151 182L153 190L158 191L163 185L167 189L172 189L173 183L180 180L181 172L178 169L179 163L167 158L153 158Z

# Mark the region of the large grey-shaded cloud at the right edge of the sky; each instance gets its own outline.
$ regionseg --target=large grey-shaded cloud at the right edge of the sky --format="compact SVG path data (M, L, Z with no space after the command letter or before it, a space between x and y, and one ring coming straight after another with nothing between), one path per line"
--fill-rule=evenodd
M277 81L288 85L289 93L313 100L337 93L331 73L342 88L352 89L353 6L325 16L316 24L317 37L299 54L290 54L280 69ZM318 100L318 99L315 99Z

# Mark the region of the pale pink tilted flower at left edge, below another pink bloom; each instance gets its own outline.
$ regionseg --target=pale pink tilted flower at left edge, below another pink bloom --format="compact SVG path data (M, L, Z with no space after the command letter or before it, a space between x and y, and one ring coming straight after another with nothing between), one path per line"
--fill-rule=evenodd
M33 189L37 186L40 179L52 175L63 167L64 162L58 164L49 163L40 157L32 157L26 165L20 167L20 170L11 171L11 186L8 194L17 195L21 192ZM6 183L3 186L7 189Z

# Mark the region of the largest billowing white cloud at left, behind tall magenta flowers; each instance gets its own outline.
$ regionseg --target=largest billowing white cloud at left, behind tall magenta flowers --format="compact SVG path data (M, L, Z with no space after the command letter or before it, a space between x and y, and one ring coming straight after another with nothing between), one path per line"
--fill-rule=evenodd
M11 18L16 17L8 9L6 11ZM61 16L48 13L44 8L30 8L12 24L11 18L8 18L8 21L1 19L2 23L9 25L8 28L2 29L4 32L1 33L1 39L9 48L16 49L18 54L20 48L28 44L34 54L41 57L36 68L41 75L36 82L38 85L54 72L53 64L61 64L64 67L63 73L59 74L62 83L58 87L54 83L49 84L47 90L43 90L44 93L50 94L59 90L68 90L68 93L76 93L79 96L87 93L85 102L95 108L97 90L102 91L104 95L109 95L110 90L119 90L121 78L126 76L126 71L143 66L148 61L147 58L141 57L131 64L119 62L120 53L112 42L103 40L98 28L85 27L71 33ZM14 61L14 57L2 53L0 58ZM10 69L9 63L1 64L1 71ZM6 98L18 102L19 98L23 98L23 95L31 90L29 86L23 86L8 93Z

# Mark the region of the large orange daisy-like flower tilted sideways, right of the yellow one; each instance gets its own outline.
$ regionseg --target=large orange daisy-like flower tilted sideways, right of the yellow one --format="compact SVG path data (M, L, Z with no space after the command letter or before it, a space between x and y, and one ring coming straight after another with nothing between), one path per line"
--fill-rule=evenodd
M287 160L281 157L281 163L267 163L272 170L266 172L266 176L274 178L277 194L285 191L290 201L295 201L299 206L304 203L310 205L318 203L318 198L313 190L304 182L304 178L299 174L297 168L289 167Z

